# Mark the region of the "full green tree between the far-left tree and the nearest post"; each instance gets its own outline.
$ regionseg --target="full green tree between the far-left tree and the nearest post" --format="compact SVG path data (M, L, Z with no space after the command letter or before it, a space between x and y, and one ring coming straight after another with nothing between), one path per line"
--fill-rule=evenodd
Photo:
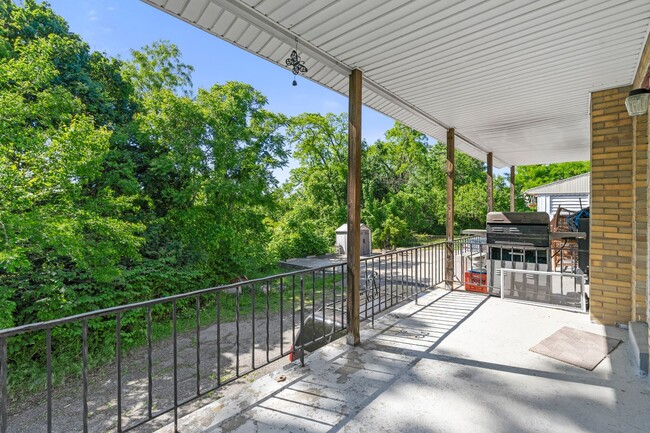
M142 98L135 123L150 257L198 269L211 282L268 263L262 221L274 205L272 170L287 154L286 119L265 104L234 82L199 89L196 99L171 89Z

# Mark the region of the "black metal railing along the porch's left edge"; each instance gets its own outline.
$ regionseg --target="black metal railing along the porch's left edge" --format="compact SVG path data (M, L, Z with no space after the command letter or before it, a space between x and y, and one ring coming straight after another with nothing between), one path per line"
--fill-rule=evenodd
M443 282L444 255L438 243L363 258L361 319L374 321ZM45 416L30 431L97 431L94 421L101 431L177 427L188 403L290 354L304 363L310 345L345 330L346 285L346 265L337 263L0 330L0 433L24 422L10 410L17 403L10 392L20 394L9 357L17 338L36 346L32 364L45 376L43 402L34 400ZM328 326L316 329L319 322ZM57 366L71 362L70 350L80 358L78 376L68 378L79 391L74 422L54 381ZM100 365L92 375L91 364ZM110 401L97 401L108 388Z

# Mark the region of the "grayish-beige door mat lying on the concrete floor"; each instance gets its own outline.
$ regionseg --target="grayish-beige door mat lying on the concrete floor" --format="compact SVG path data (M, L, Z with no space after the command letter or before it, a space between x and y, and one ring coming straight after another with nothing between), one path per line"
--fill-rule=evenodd
M563 327L529 350L587 370L593 370L621 340Z

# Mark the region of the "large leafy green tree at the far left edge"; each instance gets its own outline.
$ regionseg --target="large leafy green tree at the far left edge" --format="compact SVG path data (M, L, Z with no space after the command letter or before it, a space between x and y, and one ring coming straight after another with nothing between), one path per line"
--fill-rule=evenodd
M0 298L15 323L120 303L108 289L138 260L142 226L133 197L102 180L116 119L98 72L110 62L47 4L0 5Z

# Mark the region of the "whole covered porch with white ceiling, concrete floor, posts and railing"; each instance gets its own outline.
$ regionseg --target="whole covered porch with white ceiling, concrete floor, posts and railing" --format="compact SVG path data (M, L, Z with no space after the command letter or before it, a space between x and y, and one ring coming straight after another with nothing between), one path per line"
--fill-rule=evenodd
M115 398L101 409L111 412L115 422L111 418L107 428L116 426L117 431L153 428L156 420L172 422L165 432L183 433L648 430L649 384L635 362L643 346L647 355L643 330L650 318L650 128L647 111L631 117L625 107L631 89L649 85L647 0L143 1L281 67L295 50L306 69L301 76L349 97L346 263L4 330L0 431L8 431L10 418L7 339L19 334L46 335L47 398L38 409L44 427L27 428L55 431L53 417L68 417L53 410L53 403L57 409L56 404L67 402L53 398L51 332L73 322L79 325L82 359L75 394L78 430L89 431L88 420L96 414L92 406L89 411L89 383L96 384L88 373L88 323L99 317L115 323L115 379L98 386L115 388ZM368 297L375 280L366 277L369 269L374 273L375 261L360 258L362 104L447 146L446 242L439 245L443 248L424 246L378 258L378 269L390 273L386 278L379 272L384 281L376 291L379 305L382 299L393 305L393 283L400 288L400 300L414 297L417 302L376 319L374 298ZM489 210L495 168L510 169L514 182L516 166L591 161L588 314L451 290L459 276L454 259L455 150L486 162ZM511 208L513 202L511 185ZM422 257L429 265L424 278L418 266ZM440 283L446 288L419 296ZM293 365L251 383L245 392L216 399L213 393L222 385L294 353L293 345L302 344L296 334L309 307L325 321L326 284L332 288L335 326L319 338L342 331L338 325L344 323L346 339L307 357L306 367ZM279 313L270 318L269 292L274 290ZM225 323L221 300L227 295L236 319ZM374 327L361 323L364 295L370 304L365 316ZM323 308L318 309L321 296ZM177 303L194 309L192 335L177 330ZM202 329L201 305L213 309L214 327ZM142 368L123 371L122 317L139 314L146 333L152 309L160 306L172 328L171 349L160 350L167 363L154 364L149 330L146 352L132 360ZM269 335L274 320L279 331ZM248 332L240 335L244 322ZM529 351L564 326L623 343L594 371ZM626 326L640 332L629 334ZM222 328L232 337L224 343L224 353ZM637 338L633 345L630 335L643 341ZM224 359L227 371L220 364ZM162 372L157 376L158 367ZM154 389L163 380L167 385ZM123 388L129 387L135 389L133 398L123 401ZM182 417L179 408L203 396L215 396L215 401ZM127 423L129 411L138 416Z

